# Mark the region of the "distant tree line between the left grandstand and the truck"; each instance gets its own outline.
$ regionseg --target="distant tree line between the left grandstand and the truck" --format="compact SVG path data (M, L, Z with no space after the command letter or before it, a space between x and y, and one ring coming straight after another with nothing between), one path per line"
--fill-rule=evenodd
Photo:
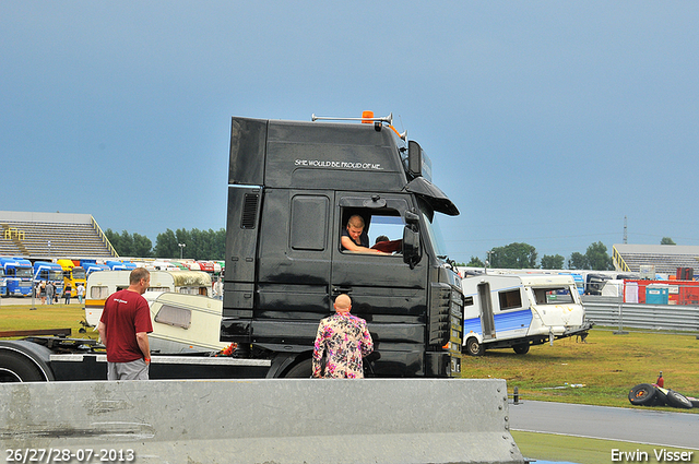
M223 260L226 252L226 230L167 229L158 234L155 247L150 238L140 234L121 234L111 229L105 236L120 257L135 258L179 258L194 260ZM182 243L183 247L180 247Z

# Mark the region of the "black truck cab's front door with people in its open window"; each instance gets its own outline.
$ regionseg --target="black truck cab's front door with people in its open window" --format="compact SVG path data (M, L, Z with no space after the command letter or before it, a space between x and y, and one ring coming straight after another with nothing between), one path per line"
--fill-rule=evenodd
M348 252L342 250L341 234L350 216L358 214L365 221L369 246L388 230L389 241L400 247L395 241L403 237L405 212L414 207L413 201L400 193L335 194L331 298L350 295L352 312L369 323L380 355L375 362L377 374L423 373L429 260L411 269L400 249L388 254Z

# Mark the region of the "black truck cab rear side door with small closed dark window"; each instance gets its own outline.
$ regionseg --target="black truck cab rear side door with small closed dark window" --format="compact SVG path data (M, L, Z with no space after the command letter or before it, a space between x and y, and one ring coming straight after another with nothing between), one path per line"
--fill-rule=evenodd
M265 189L253 342L312 347L329 314L331 191Z

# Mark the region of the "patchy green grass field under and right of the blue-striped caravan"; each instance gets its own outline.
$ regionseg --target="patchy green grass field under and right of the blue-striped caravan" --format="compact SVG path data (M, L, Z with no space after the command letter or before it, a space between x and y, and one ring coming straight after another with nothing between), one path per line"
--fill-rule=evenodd
M616 335L612 329L595 328L585 342L564 338L554 346L533 346L526 355L494 349L482 357L464 356L462 377L505 379L509 393L517 386L524 400L635 407L629 390L654 383L662 370L665 388L699 397L699 340L694 334Z

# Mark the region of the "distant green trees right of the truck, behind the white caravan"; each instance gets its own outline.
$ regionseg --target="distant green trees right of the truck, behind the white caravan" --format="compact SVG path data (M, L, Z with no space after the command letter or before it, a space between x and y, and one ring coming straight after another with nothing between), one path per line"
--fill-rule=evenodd
M672 238L663 237L661 245L676 245ZM510 243L505 247L496 247L487 251L488 267L497 269L566 269L566 259L560 254L544 254L537 264L536 248L529 243ZM597 241L591 243L583 253L573 252L568 259L569 270L612 271L614 260L607 253L607 247ZM471 257L465 265L469 267L484 267L485 263L477 257Z

